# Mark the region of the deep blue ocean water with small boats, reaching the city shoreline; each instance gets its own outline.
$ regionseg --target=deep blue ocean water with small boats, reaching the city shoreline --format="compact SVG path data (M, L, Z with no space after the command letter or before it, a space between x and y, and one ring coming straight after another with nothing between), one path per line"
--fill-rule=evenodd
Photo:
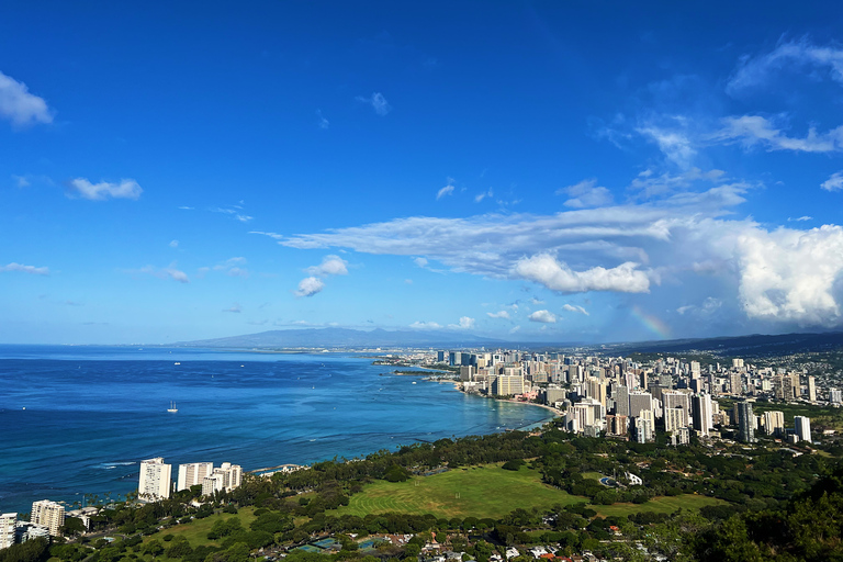
M0 346L0 513L135 491L138 462L151 457L173 464L175 480L184 462L310 464L548 419L542 408L371 363L336 353ZM178 413L167 412L170 401Z

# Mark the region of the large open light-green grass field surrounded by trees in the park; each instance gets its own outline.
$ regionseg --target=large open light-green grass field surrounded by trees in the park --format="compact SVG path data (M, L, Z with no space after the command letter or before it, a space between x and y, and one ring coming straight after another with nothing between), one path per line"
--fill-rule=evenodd
M541 475L526 467L516 472L487 465L415 476L400 483L378 481L352 495L349 505L338 509L338 514L364 516L394 512L497 519L519 507L544 509L586 501L543 484Z

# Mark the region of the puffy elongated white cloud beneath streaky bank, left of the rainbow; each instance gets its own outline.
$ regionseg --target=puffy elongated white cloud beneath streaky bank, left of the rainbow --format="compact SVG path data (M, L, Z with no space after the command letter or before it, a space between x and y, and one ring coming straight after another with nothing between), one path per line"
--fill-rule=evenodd
M573 271L565 263L548 254L524 258L515 265L515 273L524 279L541 283L553 291L580 293L586 291L616 291L645 293L650 290L647 273L636 269L638 263L628 261L611 269L596 267Z

